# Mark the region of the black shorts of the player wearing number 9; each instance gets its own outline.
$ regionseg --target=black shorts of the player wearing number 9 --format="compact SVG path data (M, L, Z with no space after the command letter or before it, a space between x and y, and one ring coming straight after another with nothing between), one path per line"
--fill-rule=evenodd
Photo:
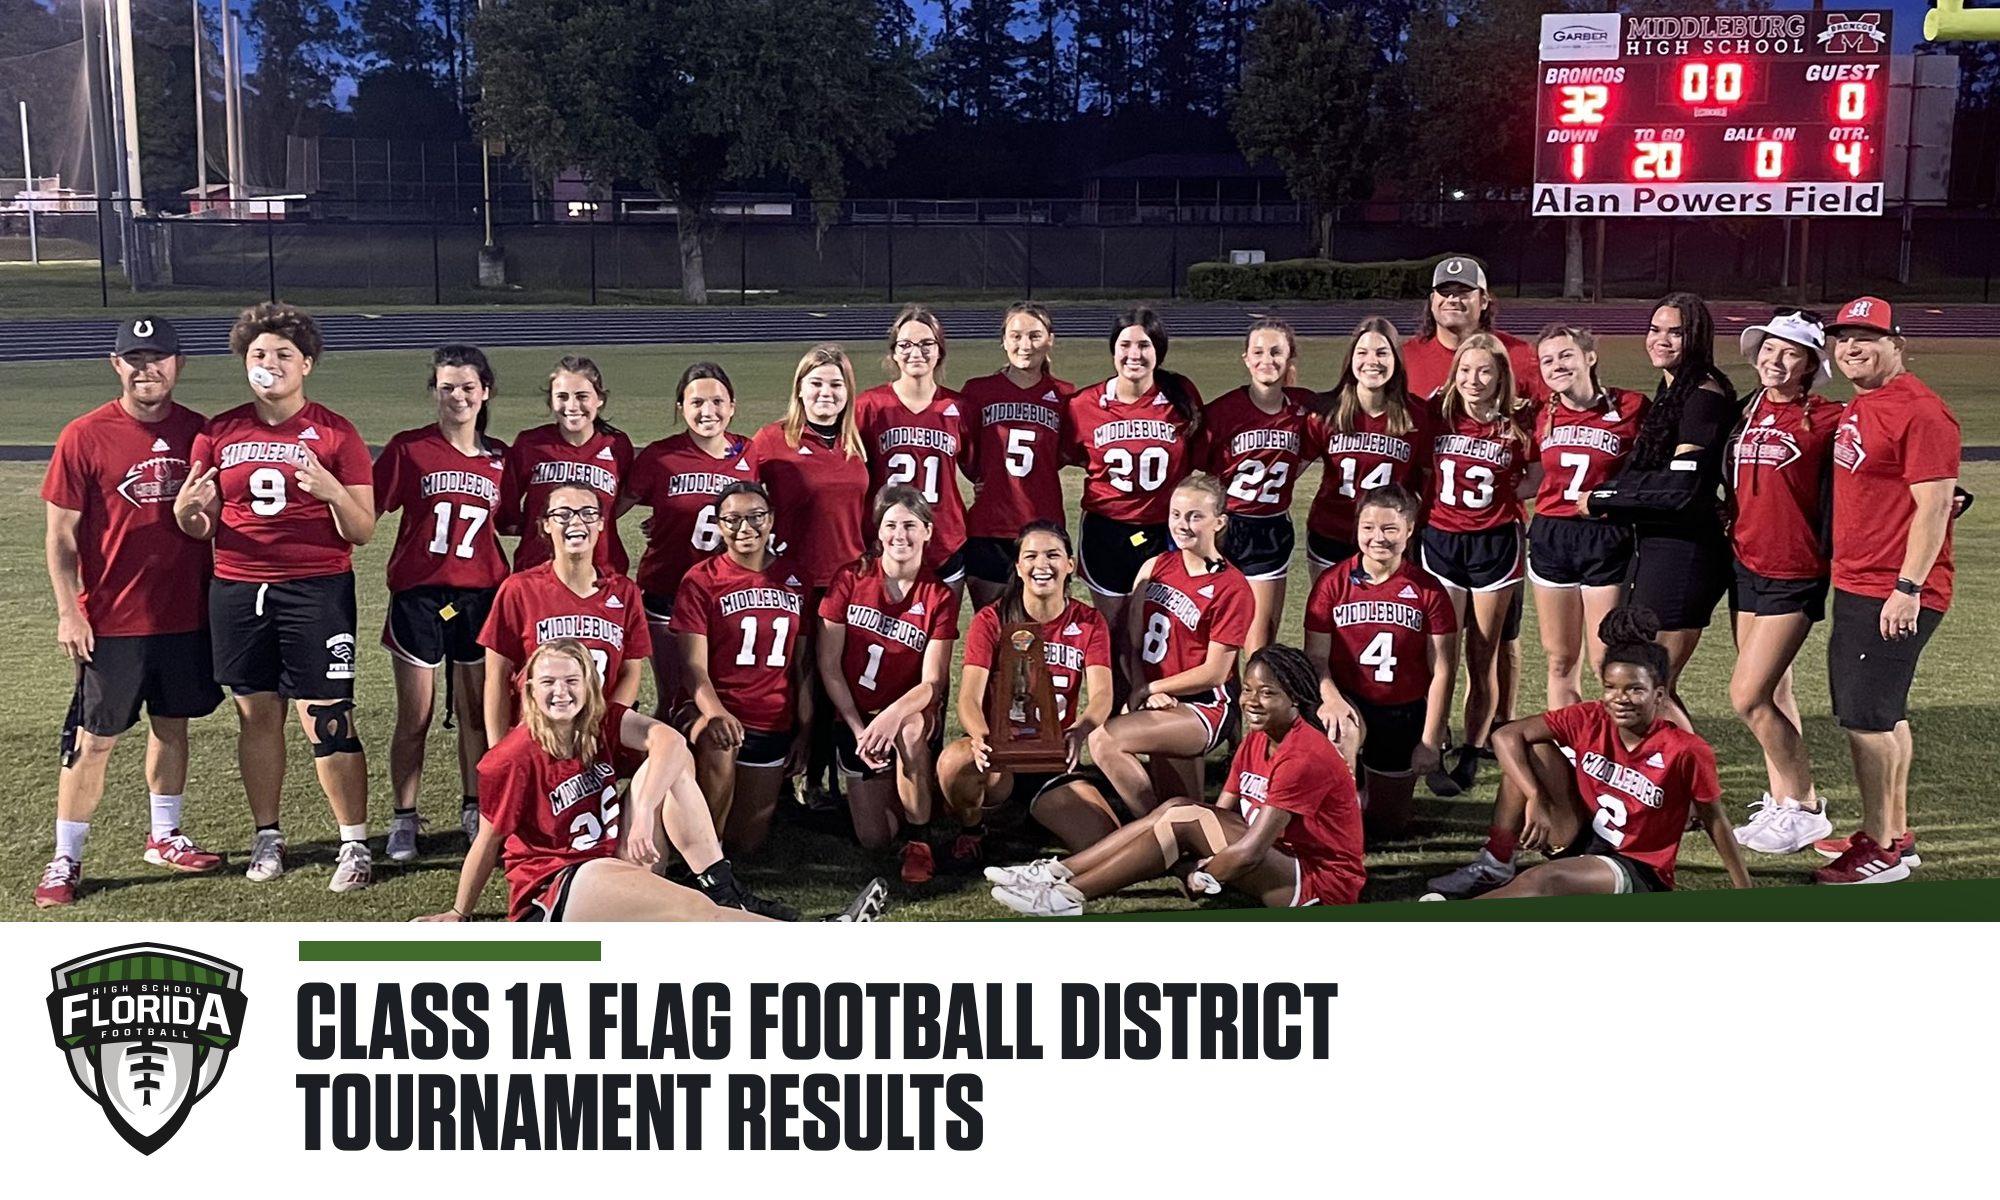
M354 698L354 572L208 588L216 682L238 696Z

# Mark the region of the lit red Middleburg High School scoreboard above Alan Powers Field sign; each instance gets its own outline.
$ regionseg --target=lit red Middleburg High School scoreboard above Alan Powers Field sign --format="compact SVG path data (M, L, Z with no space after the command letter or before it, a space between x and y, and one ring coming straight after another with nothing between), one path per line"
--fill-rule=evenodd
M1542 18L1534 216L1874 216L1890 14Z

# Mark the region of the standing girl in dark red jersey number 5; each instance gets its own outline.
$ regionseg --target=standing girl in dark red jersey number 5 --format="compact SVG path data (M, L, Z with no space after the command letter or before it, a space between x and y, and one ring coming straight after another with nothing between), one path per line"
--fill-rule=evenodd
M1062 524L1062 416L1076 388L1050 370L1054 344L1048 310L1016 302L1000 332L1006 366L960 388L970 422L964 468L974 486L966 510L972 608L990 606L1012 586L1014 538L1024 524Z

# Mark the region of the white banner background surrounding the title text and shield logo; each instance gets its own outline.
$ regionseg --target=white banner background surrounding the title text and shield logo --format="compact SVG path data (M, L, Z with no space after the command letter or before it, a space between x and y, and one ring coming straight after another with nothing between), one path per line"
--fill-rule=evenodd
M592 1186L810 1196L1058 1192L1210 1198L1310 1194L1754 1194L1800 1186L1896 1194L1992 1188L1986 1146L2000 1032L1992 926L1674 924L968 924L522 930L386 926L8 926L0 1128L16 1194L284 1198L530 1194ZM298 962L298 940L598 938L604 960ZM50 968L128 942L184 946L244 970L242 1048L150 1160L76 1088L52 1044ZM480 1062L304 1060L298 986L484 980ZM568 986L570 1062L512 1064L500 992ZM592 1062L592 980L728 984L732 1056ZM750 1060L752 982L1036 984L1038 1062ZM1062 982L1334 982L1332 1056L1130 1062L1060 1058ZM1008 990L1012 1004L1012 988ZM650 1020L650 1018L648 1018ZM1008 1014L1012 1036L1012 1012ZM898 1024L900 1030L900 1024ZM616 1054L616 1040L612 1042ZM316 1072L702 1072L704 1150L306 1152ZM730 1072L972 1072L976 1152L730 1152ZM628 1096L630 1098L630 1096ZM942 1104L940 1104L942 1110ZM940 1142L942 1122L940 1114ZM1770 1134L1766 1138L1766 1134ZM124 1170L122 1180L106 1168ZM588 1174L580 1174L588 1172ZM748 1188L748 1190L746 1190ZM12 1190L12 1188L10 1188ZM1990 1194L1990 1192L1988 1192Z

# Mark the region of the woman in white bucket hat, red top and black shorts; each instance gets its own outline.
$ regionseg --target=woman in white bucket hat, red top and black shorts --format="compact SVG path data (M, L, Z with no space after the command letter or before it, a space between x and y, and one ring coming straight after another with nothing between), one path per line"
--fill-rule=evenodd
M1764 748L1770 790L1736 840L1762 854L1792 854L1834 832L1812 786L1792 660L1826 616L1840 404L1812 392L1832 378L1816 316L1780 310L1744 330L1742 352L1760 386L1724 460L1736 552L1730 706Z

